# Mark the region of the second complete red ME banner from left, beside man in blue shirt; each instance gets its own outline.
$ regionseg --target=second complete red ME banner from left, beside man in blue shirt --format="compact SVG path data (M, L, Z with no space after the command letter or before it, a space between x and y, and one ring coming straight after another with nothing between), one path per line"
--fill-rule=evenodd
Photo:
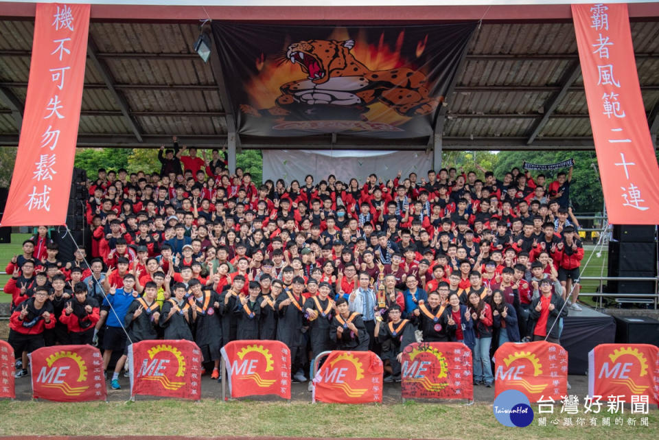
M189 340L142 340L128 347L130 395L200 400L202 354Z

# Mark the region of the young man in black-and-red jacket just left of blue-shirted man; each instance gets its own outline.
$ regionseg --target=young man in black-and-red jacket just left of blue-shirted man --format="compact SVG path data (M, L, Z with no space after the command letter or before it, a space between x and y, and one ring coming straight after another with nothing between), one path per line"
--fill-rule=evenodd
M71 344L91 344L98 319L98 302L87 298L87 287L84 283L76 283L76 286L73 286L73 298L67 301L60 316L60 323L67 325L69 329Z

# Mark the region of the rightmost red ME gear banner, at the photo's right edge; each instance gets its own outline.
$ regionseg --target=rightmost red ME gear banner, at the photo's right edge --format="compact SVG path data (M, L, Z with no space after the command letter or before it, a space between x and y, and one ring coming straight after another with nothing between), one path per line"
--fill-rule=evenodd
M659 405L659 347L600 344L588 354L588 394Z

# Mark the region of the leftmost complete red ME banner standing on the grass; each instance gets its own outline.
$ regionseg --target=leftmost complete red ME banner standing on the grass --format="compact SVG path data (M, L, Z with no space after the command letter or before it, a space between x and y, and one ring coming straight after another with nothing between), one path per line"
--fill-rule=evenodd
M101 351L91 345L56 345L32 351L32 397L54 402L106 400Z

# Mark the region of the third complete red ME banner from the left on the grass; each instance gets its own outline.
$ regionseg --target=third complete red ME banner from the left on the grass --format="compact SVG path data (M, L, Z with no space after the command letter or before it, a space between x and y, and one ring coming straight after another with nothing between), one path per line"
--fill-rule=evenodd
M222 347L231 397L290 399L290 351L278 340L233 340Z

